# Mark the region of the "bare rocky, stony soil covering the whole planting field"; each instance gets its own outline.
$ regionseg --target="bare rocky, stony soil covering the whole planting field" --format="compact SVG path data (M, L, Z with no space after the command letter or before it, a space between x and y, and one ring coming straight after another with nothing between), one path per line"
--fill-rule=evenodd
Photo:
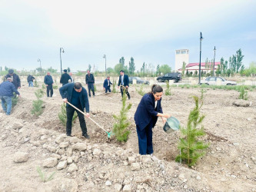
M41 85L40 85L41 87ZM90 98L91 118L111 130L112 114L121 109L121 94L107 94L97 85ZM81 137L78 120L74 137L65 135L58 120L62 99L42 99L44 112L31 114L34 91L23 82L22 98L10 116L0 111L0 191L255 191L256 190L256 91L239 101L238 91L207 89L201 113L206 115L204 141L210 144L198 164L188 168L175 162L179 132L166 134L161 119L154 129L154 156L138 154L133 115L141 99L131 86L131 135L126 144L108 139L101 129L86 120L90 139ZM149 91L145 86L145 91ZM171 88L162 98L163 111L187 123L194 107L191 95L198 88ZM246 107L238 107L246 106ZM43 182L37 168L52 180Z

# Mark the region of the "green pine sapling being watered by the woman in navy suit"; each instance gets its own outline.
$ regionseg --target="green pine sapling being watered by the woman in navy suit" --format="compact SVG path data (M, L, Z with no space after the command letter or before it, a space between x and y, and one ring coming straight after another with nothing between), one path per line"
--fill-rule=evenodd
M197 96L193 96L195 107L188 116L187 127L181 128L181 134L185 137L180 138L178 148L181 154L179 154L175 160L178 162L183 161L185 164L188 164L188 167L196 164L198 158L202 157L205 149L208 148L208 144L204 144L203 141L198 140L198 137L204 135L204 127L201 126L201 128L198 128L198 125L204 120L204 115L200 114L200 109L203 104L203 93L204 91L201 91L200 99ZM199 102L201 102L200 107Z

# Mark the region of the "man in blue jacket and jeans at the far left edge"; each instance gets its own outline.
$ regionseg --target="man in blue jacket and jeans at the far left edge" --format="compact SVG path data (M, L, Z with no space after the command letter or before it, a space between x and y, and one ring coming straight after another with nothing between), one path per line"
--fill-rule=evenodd
M19 92L15 88L15 85L12 84L12 78L7 78L6 81L0 84L0 99L2 100L2 109L7 115L11 114L13 92L20 96Z

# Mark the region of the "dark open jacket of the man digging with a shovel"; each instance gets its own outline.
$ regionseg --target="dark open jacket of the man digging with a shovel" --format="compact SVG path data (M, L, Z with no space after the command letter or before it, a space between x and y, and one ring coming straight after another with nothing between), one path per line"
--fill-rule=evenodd
M74 83L70 84L65 84L62 88L59 88L59 92L62 95L62 98L67 98L68 102L71 103L71 98L72 98L72 93L74 89ZM67 94L65 94L65 92ZM89 101L88 101L88 94L85 88L81 87L81 92L80 92L80 103L81 103L81 108L86 110L88 113L90 111L89 109ZM68 106L68 104L67 104Z

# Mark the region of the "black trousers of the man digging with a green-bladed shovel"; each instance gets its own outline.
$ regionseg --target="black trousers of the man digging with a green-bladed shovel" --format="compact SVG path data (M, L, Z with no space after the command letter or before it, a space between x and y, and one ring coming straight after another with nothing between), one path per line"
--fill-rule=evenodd
M81 111L84 111L81 106L80 108ZM75 113L75 111L78 114L78 118L79 118L79 122L80 122L80 127L81 127L81 132L82 134L87 134L87 127L85 124L85 116L84 114L81 114L81 112L79 112L78 110L76 110L75 108L72 108L71 106L67 105L66 107L66 111L67 111L67 124L66 124L66 134L70 135L71 134L71 129L72 129L72 118L73 115Z

